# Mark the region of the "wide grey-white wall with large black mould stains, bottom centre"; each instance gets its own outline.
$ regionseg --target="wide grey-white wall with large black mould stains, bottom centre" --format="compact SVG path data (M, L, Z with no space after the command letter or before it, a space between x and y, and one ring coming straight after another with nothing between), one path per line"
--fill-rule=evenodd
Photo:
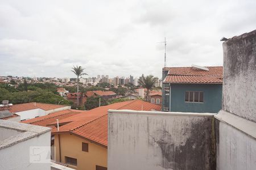
M213 114L109 111L108 169L215 169Z

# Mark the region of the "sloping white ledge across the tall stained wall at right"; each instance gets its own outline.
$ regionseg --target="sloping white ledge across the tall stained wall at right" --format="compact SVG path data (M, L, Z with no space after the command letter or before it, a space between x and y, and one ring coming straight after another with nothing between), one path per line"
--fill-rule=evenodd
M214 118L232 126L233 128L245 133L251 138L256 139L256 123L246 118L236 116L235 114L221 110Z

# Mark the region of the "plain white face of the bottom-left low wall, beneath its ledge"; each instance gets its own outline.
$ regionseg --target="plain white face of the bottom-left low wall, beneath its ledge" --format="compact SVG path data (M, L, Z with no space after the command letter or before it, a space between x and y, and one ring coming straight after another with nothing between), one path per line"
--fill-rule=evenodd
M50 163L30 163L30 146L50 146L51 131L0 150L0 169L50 170Z

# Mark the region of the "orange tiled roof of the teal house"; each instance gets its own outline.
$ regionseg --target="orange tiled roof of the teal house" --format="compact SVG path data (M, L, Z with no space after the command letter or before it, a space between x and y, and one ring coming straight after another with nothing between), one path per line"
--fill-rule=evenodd
M197 83L197 84L222 84L223 67L207 67L207 70L195 67L167 67L168 75L164 83Z

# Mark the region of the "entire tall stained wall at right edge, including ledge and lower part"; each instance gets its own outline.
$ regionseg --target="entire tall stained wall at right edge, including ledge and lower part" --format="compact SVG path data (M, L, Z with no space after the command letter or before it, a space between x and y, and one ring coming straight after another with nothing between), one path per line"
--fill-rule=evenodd
M256 169L256 30L223 43L222 110L216 120L216 169Z

